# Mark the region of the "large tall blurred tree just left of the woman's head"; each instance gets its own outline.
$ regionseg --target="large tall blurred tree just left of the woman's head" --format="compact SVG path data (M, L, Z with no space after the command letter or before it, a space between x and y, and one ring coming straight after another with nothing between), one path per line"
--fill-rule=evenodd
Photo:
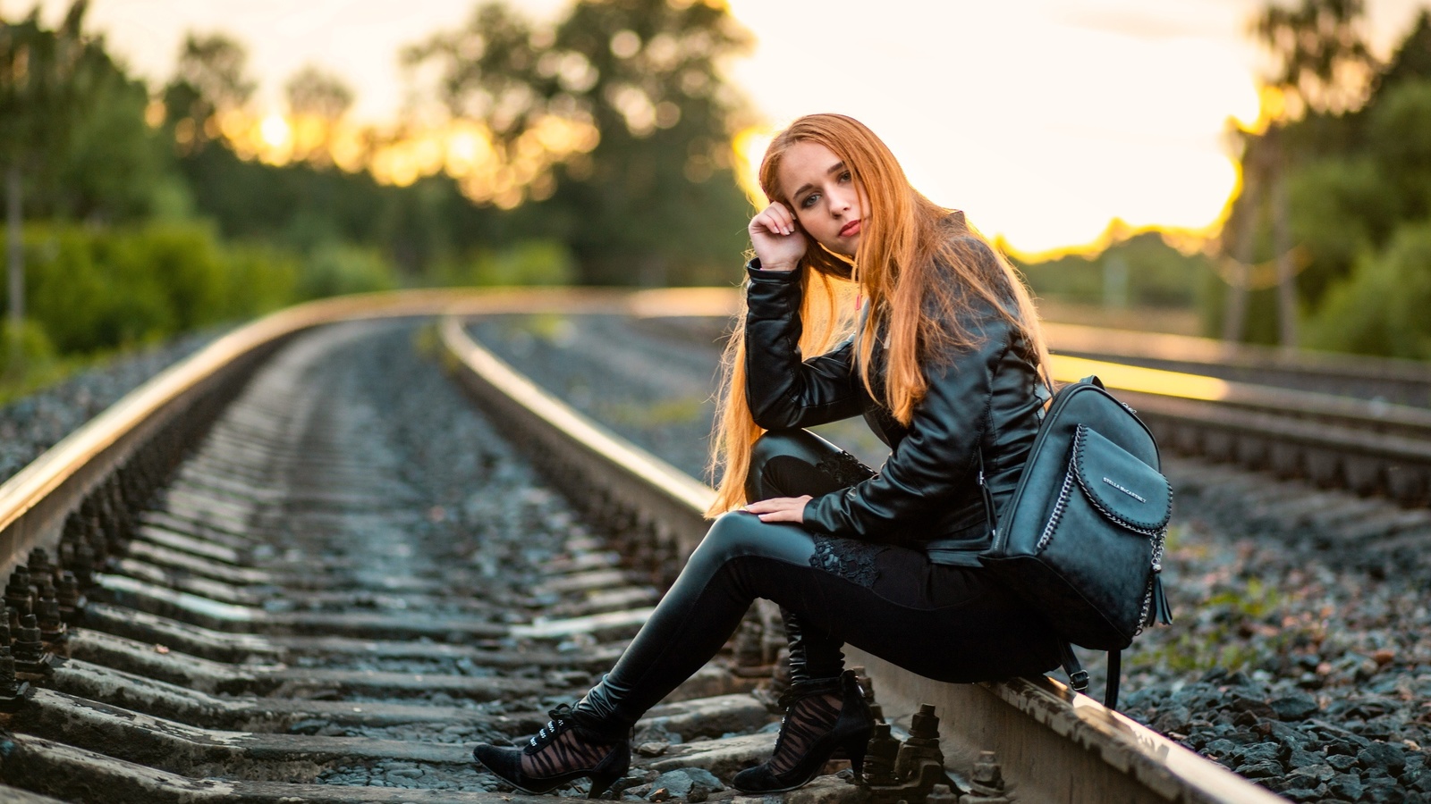
M578 0L552 29L487 3L406 62L436 67L448 112L482 123L499 159L522 159L552 117L595 127L590 153L528 189L582 282L691 283L728 276L744 245L731 136L746 112L718 64L748 41L718 3Z

